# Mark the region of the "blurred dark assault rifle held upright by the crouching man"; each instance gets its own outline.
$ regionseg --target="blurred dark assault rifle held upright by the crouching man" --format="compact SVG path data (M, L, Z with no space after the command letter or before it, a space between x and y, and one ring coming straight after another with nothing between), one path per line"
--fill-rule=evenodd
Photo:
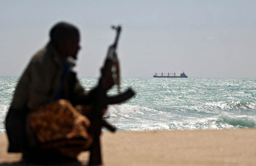
M93 95L94 111L91 117L89 117L91 120L91 128L89 129L89 133L92 133L93 136L93 143L90 148L90 165L102 164L100 149L100 134L102 126L108 128L112 132L116 131L114 126L102 118L103 110L109 104L118 104L124 102L135 95L131 88L122 94L120 92L120 68L116 49L122 28L120 26L112 26L112 29L116 30L116 38L114 43L109 46L104 66L101 68L102 75L100 78L99 86L93 90L93 94L95 94ZM118 95L108 96L106 94L107 90L115 84L118 86Z

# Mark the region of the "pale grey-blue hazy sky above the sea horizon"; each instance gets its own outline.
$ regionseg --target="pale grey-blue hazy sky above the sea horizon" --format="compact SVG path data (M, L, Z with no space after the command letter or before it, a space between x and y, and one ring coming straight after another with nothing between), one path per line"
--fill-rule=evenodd
M97 77L122 25L122 77L256 77L255 0L0 0L0 76L19 76L59 21L81 31L80 77Z

